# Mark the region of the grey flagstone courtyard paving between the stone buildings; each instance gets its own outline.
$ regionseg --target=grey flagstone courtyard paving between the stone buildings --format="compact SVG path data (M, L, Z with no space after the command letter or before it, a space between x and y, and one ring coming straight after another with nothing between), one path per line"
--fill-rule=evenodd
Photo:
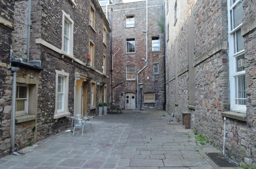
M94 132L89 126L83 136L61 132L23 149L23 156L0 159L0 169L219 169L205 152L220 151L197 146L192 130L168 118L165 111L96 117Z

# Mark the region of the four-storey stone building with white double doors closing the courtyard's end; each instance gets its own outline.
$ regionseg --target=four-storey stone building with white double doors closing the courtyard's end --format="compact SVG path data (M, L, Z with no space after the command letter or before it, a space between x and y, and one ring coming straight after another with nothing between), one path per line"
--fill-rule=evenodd
M162 1L148 0L148 19L146 1L114 0L113 4L101 7L112 22L112 103L121 104L126 110L143 110L143 106L145 110L163 109L164 46L159 25L163 19Z

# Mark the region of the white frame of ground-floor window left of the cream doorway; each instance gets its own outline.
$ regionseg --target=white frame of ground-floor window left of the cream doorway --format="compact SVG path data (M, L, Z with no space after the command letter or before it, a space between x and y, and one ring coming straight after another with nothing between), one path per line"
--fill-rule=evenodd
M68 113L68 78L69 78L69 73L65 72L64 70L58 71L55 70L56 72L56 82L55 82L55 112L54 114L59 114L59 113ZM58 76L64 77L64 101L63 101L63 109L58 110ZM56 118L54 118L56 119Z

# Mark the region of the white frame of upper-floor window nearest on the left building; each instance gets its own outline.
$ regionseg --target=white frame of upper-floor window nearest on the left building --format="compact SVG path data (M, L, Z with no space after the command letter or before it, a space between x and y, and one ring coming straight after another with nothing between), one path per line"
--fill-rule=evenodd
M67 23L69 24L68 28L69 28L69 42L68 42L68 50L64 51L64 37L67 38L67 36L64 35L64 29L65 29L65 21L67 21ZM73 55L73 37L74 37L74 21L70 18L70 15L67 14L66 12L64 12L64 10L62 10L62 45L61 45L61 51L65 52L66 54L70 55L70 56L74 56Z

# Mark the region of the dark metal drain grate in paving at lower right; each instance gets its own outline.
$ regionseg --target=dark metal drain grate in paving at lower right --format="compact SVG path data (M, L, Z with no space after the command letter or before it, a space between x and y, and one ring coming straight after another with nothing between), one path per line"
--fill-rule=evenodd
M205 153L209 156L219 167L240 167L239 164L233 162L230 158L222 153Z

